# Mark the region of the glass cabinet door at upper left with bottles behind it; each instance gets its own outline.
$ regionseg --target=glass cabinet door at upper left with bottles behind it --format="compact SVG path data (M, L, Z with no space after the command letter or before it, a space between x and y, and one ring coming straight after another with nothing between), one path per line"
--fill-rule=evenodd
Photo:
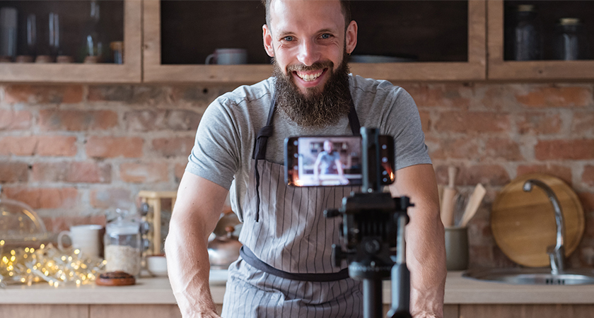
M0 81L141 81L139 0L0 0Z

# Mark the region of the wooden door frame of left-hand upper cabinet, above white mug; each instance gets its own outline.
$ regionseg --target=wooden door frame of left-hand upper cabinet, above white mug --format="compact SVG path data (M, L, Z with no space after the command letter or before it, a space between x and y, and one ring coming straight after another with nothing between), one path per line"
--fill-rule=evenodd
M0 82L140 83L141 0L124 0L124 64L0 63Z

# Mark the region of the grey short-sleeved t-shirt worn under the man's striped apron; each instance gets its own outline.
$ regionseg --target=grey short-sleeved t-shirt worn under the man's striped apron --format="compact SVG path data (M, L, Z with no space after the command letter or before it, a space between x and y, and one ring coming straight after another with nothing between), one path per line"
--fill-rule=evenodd
M361 126L379 128L395 140L396 169L431 163L421 130L419 111L403 88L388 81L349 76L351 96ZM231 208L243 219L242 204L252 172L257 132L266 125L274 78L225 93L204 112L186 171L231 191ZM347 116L325 129L296 126L274 114L266 160L282 164L284 139L289 136L352 135ZM396 175L398 177L398 175ZM200 189L196 189L200 191Z

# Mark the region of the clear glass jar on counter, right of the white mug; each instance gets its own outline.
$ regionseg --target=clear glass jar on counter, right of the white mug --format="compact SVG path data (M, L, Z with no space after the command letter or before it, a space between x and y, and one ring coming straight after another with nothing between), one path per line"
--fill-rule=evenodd
M118 218L105 226L105 271L124 271L139 276L141 270L141 235L137 220Z

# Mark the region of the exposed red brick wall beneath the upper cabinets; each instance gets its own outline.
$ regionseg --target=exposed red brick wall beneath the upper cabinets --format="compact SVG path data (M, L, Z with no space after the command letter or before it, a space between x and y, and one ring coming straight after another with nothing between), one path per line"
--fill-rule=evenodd
M469 193L471 266L513 265L489 228L491 203L518 175L546 172L577 193L586 233L570 266L594 265L594 84L403 84L419 105L436 175ZM206 106L231 86L0 86L0 183L54 232L104 223L140 190L175 190Z

